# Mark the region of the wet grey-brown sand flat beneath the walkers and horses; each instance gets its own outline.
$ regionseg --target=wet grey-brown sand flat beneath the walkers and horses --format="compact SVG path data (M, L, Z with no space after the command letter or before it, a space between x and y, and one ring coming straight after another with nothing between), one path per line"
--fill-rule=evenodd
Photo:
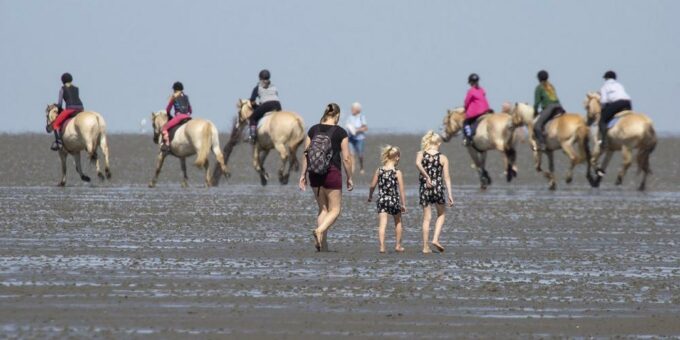
M446 144L457 205L447 214L446 252L426 256L409 156L419 137L372 137L371 171L380 145L402 147L403 254L378 254L368 175L344 197L332 251L316 253L312 193L276 176L261 187L245 145L217 188L203 188L196 169L181 188L170 160L148 189L151 138L112 135L113 181L80 182L69 160L67 187L57 188L49 137L0 135L0 334L680 336L680 139L661 140L646 193L635 191L634 167L613 185L618 161L600 189L587 186L581 166L573 184L550 192L526 145L516 183L504 183L500 157L489 155L494 183L482 192L460 142ZM557 158L561 175L566 162ZM391 227L387 236L391 247Z

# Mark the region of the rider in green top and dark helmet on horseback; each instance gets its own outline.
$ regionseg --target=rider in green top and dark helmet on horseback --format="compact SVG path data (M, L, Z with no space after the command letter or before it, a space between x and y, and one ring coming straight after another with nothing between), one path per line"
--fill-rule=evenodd
M564 109L560 104L560 99L557 98L555 87L548 81L548 72L545 70L538 71L538 85L534 91L534 112L541 112L538 114L538 119L534 123L534 138L536 138L538 150L545 150L545 135L543 128L550 119L564 113Z

